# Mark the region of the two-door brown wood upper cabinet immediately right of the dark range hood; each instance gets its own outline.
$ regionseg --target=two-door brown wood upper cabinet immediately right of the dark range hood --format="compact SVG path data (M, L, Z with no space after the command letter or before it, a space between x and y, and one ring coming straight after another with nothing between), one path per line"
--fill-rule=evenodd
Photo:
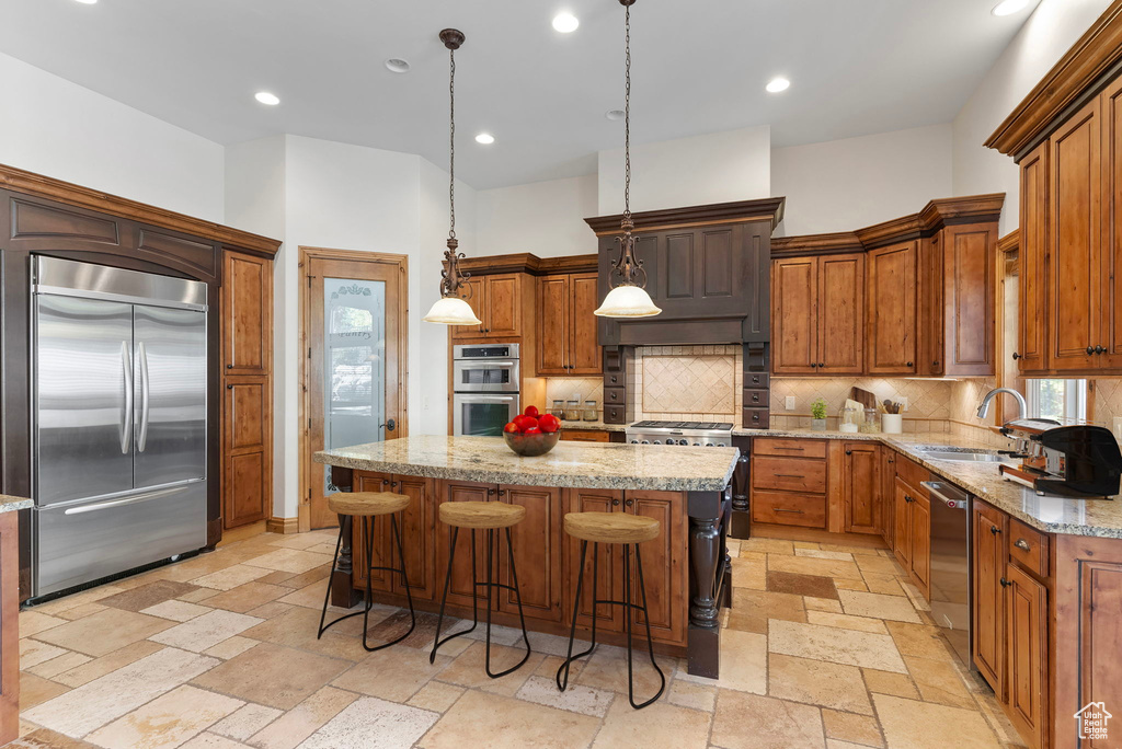
M865 257L772 262L772 371L859 374L864 370Z

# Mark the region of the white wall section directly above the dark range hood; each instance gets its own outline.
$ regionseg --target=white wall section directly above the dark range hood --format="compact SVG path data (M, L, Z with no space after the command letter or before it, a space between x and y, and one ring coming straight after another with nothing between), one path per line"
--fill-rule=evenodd
M599 213L624 210L624 150L599 152ZM771 197L771 128L632 145L632 211Z

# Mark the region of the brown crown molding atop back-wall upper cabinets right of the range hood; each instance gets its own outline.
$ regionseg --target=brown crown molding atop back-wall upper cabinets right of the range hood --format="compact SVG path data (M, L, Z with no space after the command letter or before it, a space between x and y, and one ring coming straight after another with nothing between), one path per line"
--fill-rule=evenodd
M1119 0L1122 2L1122 0ZM997 221L1005 193L944 197L929 202L919 213L884 221L856 231L802 237L773 237L773 258L806 255L862 252L911 239L930 237L944 226Z

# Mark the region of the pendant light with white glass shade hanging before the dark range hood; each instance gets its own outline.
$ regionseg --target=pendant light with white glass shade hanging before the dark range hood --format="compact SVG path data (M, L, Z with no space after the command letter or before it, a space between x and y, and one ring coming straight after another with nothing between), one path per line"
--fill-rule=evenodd
M631 213L631 7L635 0L619 0L624 7L624 216L619 222L622 237L617 237L619 242L619 260L613 266L608 276L608 285L611 290L604 297L603 304L594 314L601 317L653 317L662 312L654 306L651 295L646 293L646 270L643 269L643 261L635 257L635 238L632 230L635 222L632 221ZM622 280L615 284L615 276ZM642 281L637 279L642 276Z

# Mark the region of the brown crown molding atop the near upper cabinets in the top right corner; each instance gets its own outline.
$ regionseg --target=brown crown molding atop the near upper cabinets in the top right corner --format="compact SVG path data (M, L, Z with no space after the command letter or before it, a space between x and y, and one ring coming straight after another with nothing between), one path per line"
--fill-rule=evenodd
M1020 160L1055 129L1100 80L1122 62L1122 0L1114 0L1086 34L1017 105L985 141L987 148Z

